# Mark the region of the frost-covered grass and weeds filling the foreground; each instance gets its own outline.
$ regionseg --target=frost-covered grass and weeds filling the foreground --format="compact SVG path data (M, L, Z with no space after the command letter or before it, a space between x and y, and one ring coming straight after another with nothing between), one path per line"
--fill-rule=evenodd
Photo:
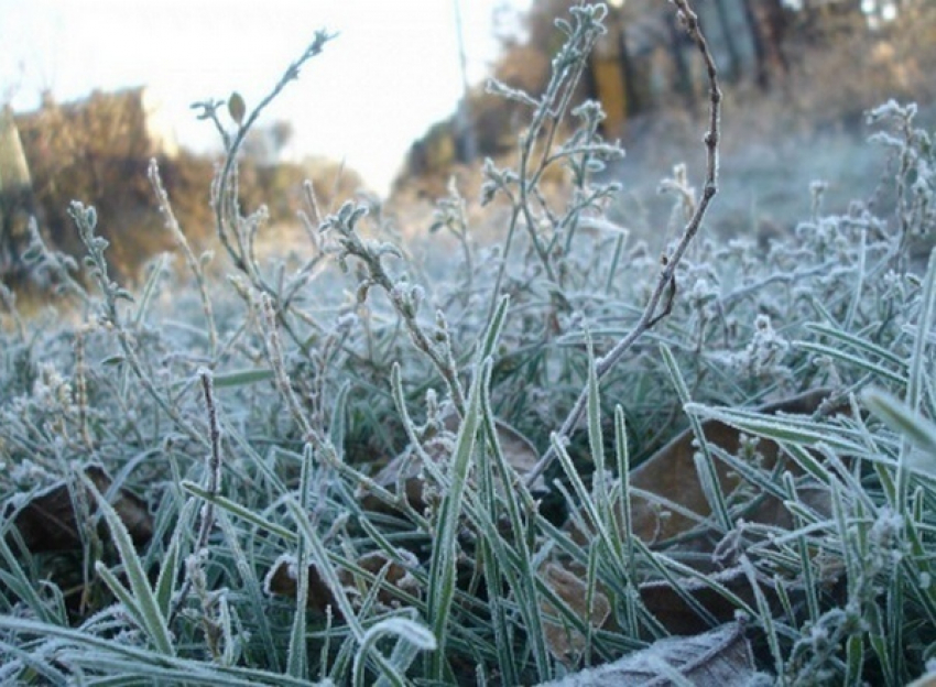
M69 315L28 320L2 292L0 681L926 673L936 258L921 274L910 247L936 216L933 140L913 106L870 115L889 216L825 215L816 183L812 216L766 250L708 238L718 72L673 4L709 117L700 190L684 167L663 183L660 253L610 219L601 173L623 152L598 103L574 105L601 4L556 21L542 96L490 85L529 110L513 162L481 172L497 242L475 240L453 186L433 221L458 250L421 265L369 203L329 212L307 184L304 262L258 258L266 212L242 207L240 146L326 33L254 109L197 106L225 145L220 255L195 254L151 165L185 288L166 259L139 293L115 283L80 203L95 288L33 232ZM562 197L542 184L556 168Z

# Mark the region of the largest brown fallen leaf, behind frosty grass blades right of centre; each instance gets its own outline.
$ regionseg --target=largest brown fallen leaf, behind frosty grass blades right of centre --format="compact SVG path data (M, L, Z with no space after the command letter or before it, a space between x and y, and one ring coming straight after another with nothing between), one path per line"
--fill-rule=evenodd
M807 414L815 412L828 395L828 391L817 390L757 410L764 414ZM706 421L703 423L703 432L710 444L728 454L738 455L741 450L741 432L725 423ZM798 466L781 454L776 443L761 439L757 448L761 456L762 469L782 467L794 475L802 475ZM737 567L737 560L732 559L738 552L732 552L730 546L722 550L719 546L721 535L714 527L705 525L711 515L711 509L696 470L697 450L695 434L687 429L631 472L631 531L647 545L667 543L666 550L670 555L679 557L681 554L696 554L687 556L684 563L705 572L711 580L718 581L753 607L755 599L751 581ZM781 461L782 465L779 465ZM740 476L729 465L717 458L715 464L725 494L730 494L742 486ZM758 500L744 513L748 522L786 530L793 527L791 514L779 499L755 493L745 494L745 498L753 500L754 495ZM819 512L828 512L827 489L804 480L798 486L798 495L804 505ZM617 521L618 536L623 538L625 531L619 515L619 502L614 504L612 512ZM565 530L583 546L594 541L591 524L585 512L569 519ZM573 565L569 567L575 568ZM824 576L823 584L834 585L839 577L835 569L829 567L829 574ZM759 578L757 585L768 602L774 603L777 599L775 581ZM787 587L786 592L791 597L799 593L794 587ZM665 580L642 584L640 597L651 614L674 634L693 634L709 629L709 623L697 612L697 607L705 609L718 622L733 620L736 612L736 607L725 597L695 578L676 578L673 584Z

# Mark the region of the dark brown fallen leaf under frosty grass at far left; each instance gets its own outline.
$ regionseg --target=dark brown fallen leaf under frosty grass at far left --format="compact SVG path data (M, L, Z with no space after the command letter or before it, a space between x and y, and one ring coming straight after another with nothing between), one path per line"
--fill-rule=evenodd
M105 469L97 465L85 468L85 475L101 493L107 493L112 480ZM73 489L79 487L73 486ZM95 500L89 493L85 499L94 514ZM113 494L111 505L123 522L133 543L144 546L153 537L153 516L145 501L128 491L119 489ZM12 517L12 525L19 531L20 538L33 554L65 552L81 547L81 534L75 515L73 493L62 480L48 489L31 497L25 503L8 502L3 508L3 517ZM15 538L7 535L8 542Z

